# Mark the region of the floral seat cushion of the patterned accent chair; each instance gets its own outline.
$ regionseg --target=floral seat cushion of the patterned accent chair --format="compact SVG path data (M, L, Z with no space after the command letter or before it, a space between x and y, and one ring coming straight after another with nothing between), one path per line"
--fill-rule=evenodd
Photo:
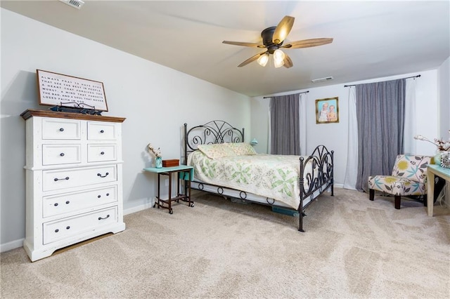
M368 177L369 189L386 192L392 195L426 194L426 183L392 175L375 175Z

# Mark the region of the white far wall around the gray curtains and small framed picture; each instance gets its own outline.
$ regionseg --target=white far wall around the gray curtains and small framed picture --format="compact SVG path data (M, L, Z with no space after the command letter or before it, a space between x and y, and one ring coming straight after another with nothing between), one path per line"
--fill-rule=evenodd
M344 85L363 84L376 81L387 81L399 78L412 77L420 74L416 79L416 124L417 133L430 139L435 138L438 133L438 89L437 69L414 74L400 74L393 77L384 77L373 80L349 82L332 86L308 88L288 93L285 95L309 91L307 93L307 152L311 153L317 145L325 145L328 150L335 151L335 184L343 185L345 178L345 167L347 165L347 138L348 138L348 100L349 88ZM316 124L316 99L339 98L339 123L338 124ZM269 102L270 98L252 98L252 138L257 138L257 152L267 152L268 130L269 130ZM428 142L413 140L416 142L416 154L435 154L436 147Z

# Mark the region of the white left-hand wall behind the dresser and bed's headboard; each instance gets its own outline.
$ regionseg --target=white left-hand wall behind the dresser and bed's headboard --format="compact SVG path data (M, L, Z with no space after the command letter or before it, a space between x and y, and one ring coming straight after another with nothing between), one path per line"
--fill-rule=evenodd
M151 51L151 49L149 50ZM180 159L181 128L212 119L246 128L250 99L174 69L98 44L1 8L0 225L1 251L25 237L25 121L20 113L39 107L36 69L102 81L109 112L123 124L124 212L150 206L155 175L146 145L165 159Z

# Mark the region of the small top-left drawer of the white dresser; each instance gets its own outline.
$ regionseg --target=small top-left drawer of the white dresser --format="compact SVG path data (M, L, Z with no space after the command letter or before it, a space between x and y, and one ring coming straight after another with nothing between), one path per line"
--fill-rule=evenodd
M71 119L42 119L42 139L81 139L81 121Z

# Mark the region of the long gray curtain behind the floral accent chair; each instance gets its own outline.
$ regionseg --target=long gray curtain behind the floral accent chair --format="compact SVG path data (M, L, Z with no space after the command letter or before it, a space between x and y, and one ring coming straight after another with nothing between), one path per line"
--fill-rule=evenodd
M368 192L369 175L390 175L403 153L405 85L405 79L356 85L359 191Z

